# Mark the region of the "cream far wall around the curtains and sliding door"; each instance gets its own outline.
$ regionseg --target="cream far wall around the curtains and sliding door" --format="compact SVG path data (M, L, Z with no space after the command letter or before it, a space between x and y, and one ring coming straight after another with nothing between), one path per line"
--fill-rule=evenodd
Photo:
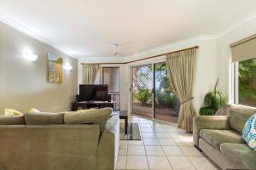
M194 38L185 42L178 42L175 44L168 44L160 48L153 48L143 53L127 56L123 60L114 59L115 62L127 62L135 59L143 59L148 56L153 56L156 54L165 54L168 52L176 51L183 48L191 48L194 46L199 46L198 54L196 59L196 69L195 69L195 83L194 83L194 105L195 111L198 112L205 94L212 90L214 83L217 80L216 71L216 41L212 37L206 38ZM93 62L113 62L113 59L109 58L98 58L98 59L80 59L79 60L79 83L81 83L81 65L80 63L93 63ZM131 111L131 66L132 65L143 65L148 63L155 63L166 60L165 57L147 59L143 61L133 62L131 64L119 65L120 67L120 92L121 92L121 110Z

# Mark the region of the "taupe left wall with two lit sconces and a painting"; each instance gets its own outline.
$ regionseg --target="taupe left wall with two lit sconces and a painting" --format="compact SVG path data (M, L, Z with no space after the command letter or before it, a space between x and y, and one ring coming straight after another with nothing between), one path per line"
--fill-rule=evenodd
M24 59L26 48L37 54L38 60ZM48 53L60 55L63 65L73 66L72 71L63 70L61 83L47 82ZM77 65L77 59L0 22L0 115L4 108L70 111L77 92Z

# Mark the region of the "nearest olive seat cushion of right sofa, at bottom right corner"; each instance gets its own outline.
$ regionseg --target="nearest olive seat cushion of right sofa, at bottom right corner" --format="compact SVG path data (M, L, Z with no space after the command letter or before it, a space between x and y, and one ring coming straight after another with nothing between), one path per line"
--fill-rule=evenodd
M220 144L220 151L236 164L241 164L248 169L256 167L256 151L250 149L247 144Z

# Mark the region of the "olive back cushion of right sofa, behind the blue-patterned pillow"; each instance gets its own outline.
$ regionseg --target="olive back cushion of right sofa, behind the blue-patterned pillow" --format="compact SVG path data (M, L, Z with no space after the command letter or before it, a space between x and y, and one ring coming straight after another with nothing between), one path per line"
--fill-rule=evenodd
M230 127L241 133L250 116L256 113L256 109L245 105L230 105Z

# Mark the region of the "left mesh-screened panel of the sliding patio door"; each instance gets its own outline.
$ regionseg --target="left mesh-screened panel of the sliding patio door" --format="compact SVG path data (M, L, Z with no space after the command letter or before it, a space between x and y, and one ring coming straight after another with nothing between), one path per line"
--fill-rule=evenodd
M132 112L134 114L154 117L153 72L152 65L132 67Z

